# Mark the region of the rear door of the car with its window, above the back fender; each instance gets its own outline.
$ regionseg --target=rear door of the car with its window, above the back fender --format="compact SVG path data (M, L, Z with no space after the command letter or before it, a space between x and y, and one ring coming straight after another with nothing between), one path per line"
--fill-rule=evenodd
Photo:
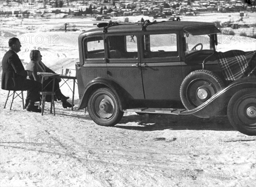
M136 34L106 34L108 76L133 99L144 99Z

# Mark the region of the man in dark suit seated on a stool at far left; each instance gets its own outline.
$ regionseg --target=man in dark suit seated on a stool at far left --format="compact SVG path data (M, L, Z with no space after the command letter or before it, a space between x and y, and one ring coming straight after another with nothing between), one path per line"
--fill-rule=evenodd
M20 47L20 40L18 38L14 37L9 40L9 51L6 52L2 60L3 73L1 88L3 90L31 91L29 105L26 107L26 110L41 112L41 110L35 107L35 102L40 100L38 91L41 90L42 85L34 80L26 79L32 72L24 69L17 55Z

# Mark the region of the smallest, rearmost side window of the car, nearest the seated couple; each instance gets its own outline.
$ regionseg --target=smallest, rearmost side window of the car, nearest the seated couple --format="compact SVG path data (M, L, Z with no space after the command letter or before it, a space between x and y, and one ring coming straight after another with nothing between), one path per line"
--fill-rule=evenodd
M85 58L105 58L104 41L102 37L92 37L85 40Z

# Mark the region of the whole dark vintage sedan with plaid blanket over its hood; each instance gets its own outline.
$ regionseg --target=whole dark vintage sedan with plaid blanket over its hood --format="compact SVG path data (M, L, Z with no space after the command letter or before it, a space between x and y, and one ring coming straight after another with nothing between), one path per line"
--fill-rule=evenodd
M98 125L124 111L228 116L256 135L256 51L218 52L214 23L100 23L79 35L79 109Z

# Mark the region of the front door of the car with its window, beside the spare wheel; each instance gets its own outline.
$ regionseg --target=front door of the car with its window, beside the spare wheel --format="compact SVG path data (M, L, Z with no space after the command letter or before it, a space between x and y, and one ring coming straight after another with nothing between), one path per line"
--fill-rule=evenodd
M178 36L178 31L152 31L140 36L145 99L180 99L183 78Z

